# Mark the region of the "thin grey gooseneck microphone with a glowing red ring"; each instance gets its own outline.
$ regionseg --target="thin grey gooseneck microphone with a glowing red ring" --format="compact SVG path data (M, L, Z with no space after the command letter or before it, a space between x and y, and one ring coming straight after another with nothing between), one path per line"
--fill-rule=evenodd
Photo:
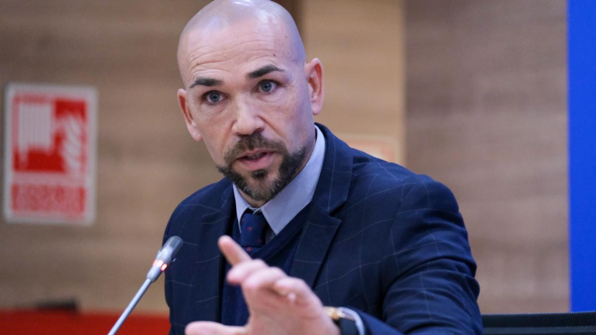
M142 284L141 288L136 291L135 296L132 298L128 306L126 306L126 309L124 312L122 312L122 315L120 315L120 318L118 318L118 321L116 321L108 335L116 334L116 331L120 329L120 326L122 326L128 315L131 314L132 309L135 308L136 304L139 302L139 300L141 300L141 297L145 291L147 291L151 283L156 281L159 275L162 274L162 272L167 268L167 266L170 265L173 260L175 260L176 255L178 255L178 252L181 248L182 238L179 238L178 236L172 236L167 239L166 243L163 244L162 249L157 252L157 256L153 261L153 265L151 265L149 272L147 272L145 282Z

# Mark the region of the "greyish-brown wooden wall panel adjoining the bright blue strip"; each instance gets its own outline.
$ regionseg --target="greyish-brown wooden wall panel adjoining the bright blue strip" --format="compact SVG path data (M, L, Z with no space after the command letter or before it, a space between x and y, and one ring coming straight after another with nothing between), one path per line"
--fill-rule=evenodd
M408 168L452 188L482 312L568 309L566 2L406 2Z

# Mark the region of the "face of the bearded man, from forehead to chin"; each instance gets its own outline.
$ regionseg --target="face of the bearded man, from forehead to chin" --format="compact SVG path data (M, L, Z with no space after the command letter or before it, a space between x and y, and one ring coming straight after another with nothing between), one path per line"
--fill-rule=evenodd
M191 32L186 43L179 98L188 129L222 173L265 203L312 152L311 68L320 63L297 62L287 34L250 23Z

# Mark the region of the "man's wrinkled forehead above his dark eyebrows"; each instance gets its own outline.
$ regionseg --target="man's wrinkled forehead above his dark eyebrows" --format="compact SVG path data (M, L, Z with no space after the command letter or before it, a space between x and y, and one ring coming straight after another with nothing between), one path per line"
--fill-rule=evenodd
M208 70L244 75L260 63L287 67L294 58L290 38L280 27L237 23L225 29L194 30L184 43L181 70L187 81Z

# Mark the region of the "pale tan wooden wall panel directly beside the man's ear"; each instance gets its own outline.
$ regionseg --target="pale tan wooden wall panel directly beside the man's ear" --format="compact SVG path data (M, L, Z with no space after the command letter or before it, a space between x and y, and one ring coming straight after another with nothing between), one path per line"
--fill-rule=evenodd
M405 160L403 2L305 0L302 37L324 67L325 104L318 122L349 143L380 140Z

